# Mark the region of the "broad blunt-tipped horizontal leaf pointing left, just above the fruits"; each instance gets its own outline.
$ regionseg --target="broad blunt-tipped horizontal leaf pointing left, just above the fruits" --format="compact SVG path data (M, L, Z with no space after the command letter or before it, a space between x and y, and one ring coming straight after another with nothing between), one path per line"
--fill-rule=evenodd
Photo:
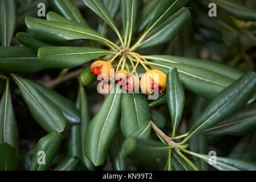
M94 47L42 47L38 59L46 68L74 68L111 53Z

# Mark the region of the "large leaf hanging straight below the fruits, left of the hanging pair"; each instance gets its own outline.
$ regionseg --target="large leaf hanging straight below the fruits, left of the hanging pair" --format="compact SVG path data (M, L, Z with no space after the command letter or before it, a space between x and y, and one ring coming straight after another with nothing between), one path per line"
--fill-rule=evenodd
M120 86L113 86L100 109L88 125L85 140L85 154L95 166L105 161L109 144L117 132L120 114Z

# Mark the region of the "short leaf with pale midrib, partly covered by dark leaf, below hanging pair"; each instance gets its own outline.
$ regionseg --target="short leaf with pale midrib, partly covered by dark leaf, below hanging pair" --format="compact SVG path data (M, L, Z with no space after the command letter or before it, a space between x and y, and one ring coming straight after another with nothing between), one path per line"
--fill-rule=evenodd
M122 151L124 156L128 156L132 154L135 150L135 140L131 138L141 138L148 139L151 133L151 122L147 122L144 125L140 126L138 129L133 131L125 140L122 145Z

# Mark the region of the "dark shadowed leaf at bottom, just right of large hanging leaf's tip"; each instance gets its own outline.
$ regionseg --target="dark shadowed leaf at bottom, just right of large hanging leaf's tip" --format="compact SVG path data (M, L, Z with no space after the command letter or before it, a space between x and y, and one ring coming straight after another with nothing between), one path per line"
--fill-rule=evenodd
M127 168L126 158L124 157L121 150L123 141L123 135L120 132L117 133L113 138L108 150L109 159L114 171L125 171Z

